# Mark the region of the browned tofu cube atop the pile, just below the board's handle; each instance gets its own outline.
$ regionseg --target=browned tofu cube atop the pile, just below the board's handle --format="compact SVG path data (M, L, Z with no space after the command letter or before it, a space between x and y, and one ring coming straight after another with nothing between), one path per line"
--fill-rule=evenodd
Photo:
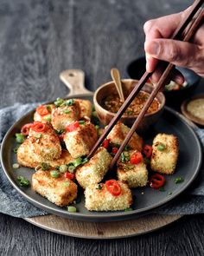
M65 104L67 101L65 101ZM51 124L55 130L64 130L73 121L80 120L80 103L72 101L72 105L63 104L52 111Z

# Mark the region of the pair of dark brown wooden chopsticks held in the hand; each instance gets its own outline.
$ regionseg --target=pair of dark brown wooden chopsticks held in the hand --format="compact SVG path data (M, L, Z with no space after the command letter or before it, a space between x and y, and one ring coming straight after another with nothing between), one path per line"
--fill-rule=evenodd
M191 37L194 36L195 31L198 29L199 25L201 24L201 21L204 18L204 10L200 9L203 3L204 3L204 0L194 1L192 5L192 10L188 14L188 16L186 16L186 18L182 21L182 23L178 26L177 30L175 30L175 33L173 36L171 36L171 39L188 42L191 39ZM159 63L161 64L161 62ZM175 65L168 62L163 62L163 63L165 64L166 69L163 71L163 75L160 77L160 80L156 84L156 87L152 90L150 97L148 98L147 102L144 104L141 112L137 116L136 121L133 123L129 133L126 135L123 143L120 145L120 148L118 148L117 154L115 154L114 158L112 159L110 169L112 169L115 166L120 154L124 150L124 147L131 140L131 136L134 134L135 130L137 129L139 122L143 119L143 116L145 115L146 111L150 107L151 102L153 102L157 93L161 89L163 89L169 73L171 72L172 69L175 69ZM146 71L141 77L141 79L139 80L139 82L135 84L135 87L134 89L132 89L131 94L126 98L126 100L124 101L124 104L121 106L121 108L119 108L117 114L109 123L108 127L105 128L104 134L99 137L99 140L96 142L96 144L92 148L90 154L88 154L87 156L88 158L91 158L92 155L96 152L96 150L99 148L101 143L105 140L107 135L111 132L114 125L117 123L120 117L124 114L124 111L128 108L128 106L131 104L131 102L136 97L138 92L143 88L143 85L145 84L145 82L148 81L148 79L150 78L150 75L152 75L155 72L155 70L151 73L148 73Z

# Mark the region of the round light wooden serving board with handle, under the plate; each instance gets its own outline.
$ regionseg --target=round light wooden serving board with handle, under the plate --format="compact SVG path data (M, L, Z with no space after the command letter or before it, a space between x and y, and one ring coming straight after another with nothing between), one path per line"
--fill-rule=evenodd
M67 69L61 72L60 78L70 90L69 94L66 96L92 95L92 91L85 88L85 75L82 70ZM78 238L105 240L150 233L180 218L182 218L182 215L149 214L133 220L88 222L69 220L54 214L49 214L46 216L25 218L24 220L54 233L61 233Z

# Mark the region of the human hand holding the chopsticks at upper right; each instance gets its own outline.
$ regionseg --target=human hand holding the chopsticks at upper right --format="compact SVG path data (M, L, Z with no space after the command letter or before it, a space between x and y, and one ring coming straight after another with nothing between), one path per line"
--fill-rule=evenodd
M146 36L144 50L148 72L152 72L156 68L158 60L163 60L176 66L192 69L204 77L204 23L201 24L190 43L168 39L183 18L188 15L190 9L191 7L181 13L163 16L144 23L143 30ZM162 72L162 69L156 69L151 77L152 82L158 82ZM179 84L184 82L182 75L177 72L172 74L171 79Z

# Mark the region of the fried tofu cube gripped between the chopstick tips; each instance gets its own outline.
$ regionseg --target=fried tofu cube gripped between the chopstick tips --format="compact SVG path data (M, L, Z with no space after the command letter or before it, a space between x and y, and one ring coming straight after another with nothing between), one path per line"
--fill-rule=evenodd
M97 184L103 180L111 164L112 156L103 147L100 147L90 161L76 171L76 180L83 188Z

